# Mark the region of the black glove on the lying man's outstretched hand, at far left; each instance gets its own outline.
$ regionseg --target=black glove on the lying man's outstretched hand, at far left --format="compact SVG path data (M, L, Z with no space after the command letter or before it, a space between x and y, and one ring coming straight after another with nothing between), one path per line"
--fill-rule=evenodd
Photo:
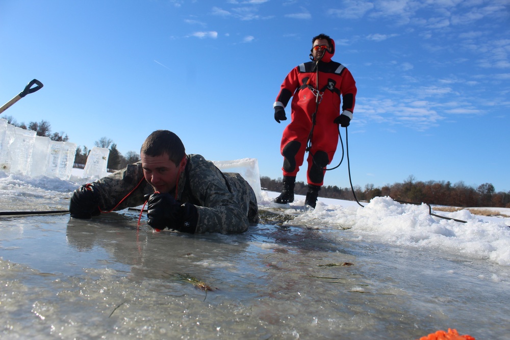
M100 214L99 193L93 185L86 184L74 190L69 202L69 215L72 218L89 219Z

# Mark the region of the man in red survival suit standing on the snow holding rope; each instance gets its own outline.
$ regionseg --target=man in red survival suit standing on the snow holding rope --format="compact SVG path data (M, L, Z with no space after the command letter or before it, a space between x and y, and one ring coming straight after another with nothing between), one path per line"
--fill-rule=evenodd
M314 37L312 61L296 66L287 74L273 104L274 119L279 123L287 119L285 107L294 96L291 122L284 130L280 146L284 156L283 190L275 203L294 201L296 174L303 164L305 151L309 151L305 204L315 208L325 168L337 149L338 125L346 127L352 119L356 83L345 66L331 60L334 54L333 39L325 34Z

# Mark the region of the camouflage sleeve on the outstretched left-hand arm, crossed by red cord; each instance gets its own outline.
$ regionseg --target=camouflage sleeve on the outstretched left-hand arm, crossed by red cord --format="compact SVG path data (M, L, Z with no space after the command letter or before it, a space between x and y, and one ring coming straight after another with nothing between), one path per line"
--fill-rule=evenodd
M138 188L137 185L139 185ZM152 192L150 185L143 177L140 162L129 164L122 170L96 180L92 186L99 192L99 207L102 212L111 211L113 208L117 211L141 205L145 202L144 194ZM134 190L135 188L136 190ZM133 193L122 201L132 191ZM119 204L119 202L121 203Z

